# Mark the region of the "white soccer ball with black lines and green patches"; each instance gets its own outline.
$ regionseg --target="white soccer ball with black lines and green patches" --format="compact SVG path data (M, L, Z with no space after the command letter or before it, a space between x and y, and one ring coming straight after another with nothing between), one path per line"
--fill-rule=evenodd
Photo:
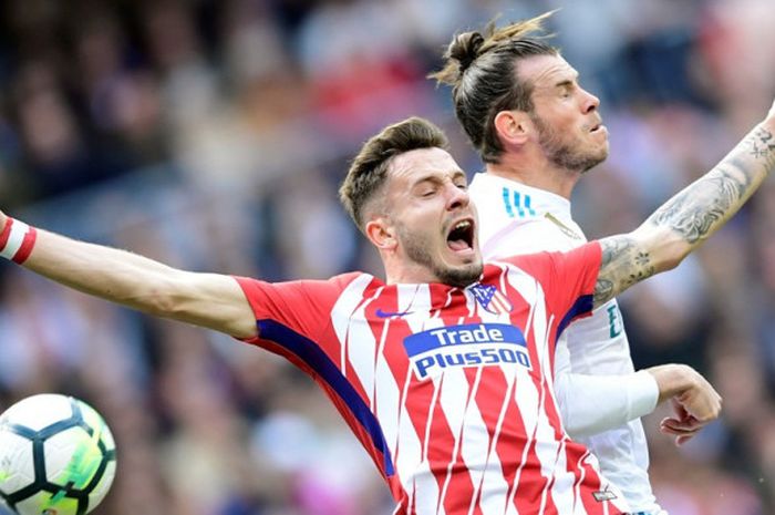
M113 435L82 401L33 395L0 416L0 506L20 515L89 513L107 493L115 467Z

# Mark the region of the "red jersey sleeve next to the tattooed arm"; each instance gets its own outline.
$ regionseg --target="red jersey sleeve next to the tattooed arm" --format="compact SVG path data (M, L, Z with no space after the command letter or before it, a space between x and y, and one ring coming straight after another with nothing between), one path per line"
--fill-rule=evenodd
M539 253L506 259L535 277L547 306L559 318L557 334L577 318L592 312L592 295L602 250L592 241L567 253Z

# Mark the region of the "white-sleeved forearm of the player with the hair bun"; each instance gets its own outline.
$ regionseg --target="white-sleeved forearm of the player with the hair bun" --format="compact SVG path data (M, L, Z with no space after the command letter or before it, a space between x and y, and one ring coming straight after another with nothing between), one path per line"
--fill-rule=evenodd
M602 433L651 413L659 388L648 372L623 375L558 374L555 382L565 430L572 439Z

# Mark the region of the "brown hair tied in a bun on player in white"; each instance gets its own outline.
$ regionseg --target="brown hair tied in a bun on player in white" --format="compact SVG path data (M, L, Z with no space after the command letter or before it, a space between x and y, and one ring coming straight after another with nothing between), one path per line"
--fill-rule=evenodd
M444 53L444 68L428 78L452 85L455 116L485 163L497 163L503 145L495 131L500 111L533 111L533 85L519 80L517 60L534 55L559 55L544 40L544 20L555 11L530 20L482 32L455 35Z

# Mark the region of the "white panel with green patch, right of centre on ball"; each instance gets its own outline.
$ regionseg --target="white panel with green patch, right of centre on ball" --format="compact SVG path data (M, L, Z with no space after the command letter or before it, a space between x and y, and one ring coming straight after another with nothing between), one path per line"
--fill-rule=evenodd
M92 436L83 428L70 428L50 436L44 443L46 478L72 490L83 490L100 470L100 433Z

